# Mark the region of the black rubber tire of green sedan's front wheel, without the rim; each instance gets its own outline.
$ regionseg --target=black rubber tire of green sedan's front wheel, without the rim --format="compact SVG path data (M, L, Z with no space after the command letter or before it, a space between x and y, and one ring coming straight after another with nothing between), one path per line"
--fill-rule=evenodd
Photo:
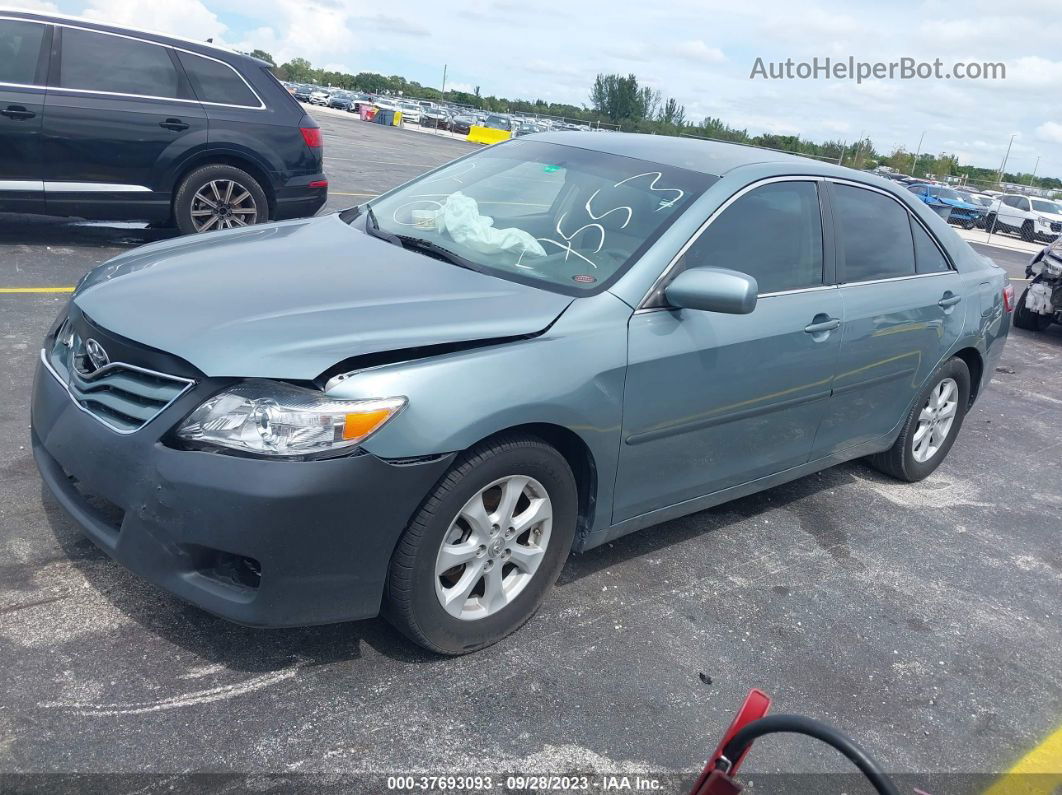
M447 612L435 593L435 561L451 522L484 486L524 474L552 502L545 556L532 578L497 612L472 621ZM576 479L567 461L535 436L512 435L462 453L398 540L391 558L383 617L406 637L440 654L459 655L496 643L523 626L542 605L564 567L579 515Z

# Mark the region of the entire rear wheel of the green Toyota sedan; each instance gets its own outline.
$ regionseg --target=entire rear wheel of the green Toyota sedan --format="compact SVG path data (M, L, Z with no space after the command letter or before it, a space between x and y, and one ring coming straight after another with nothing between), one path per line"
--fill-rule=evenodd
M909 483L928 477L955 444L969 405L970 369L953 357L926 382L893 446L868 461Z

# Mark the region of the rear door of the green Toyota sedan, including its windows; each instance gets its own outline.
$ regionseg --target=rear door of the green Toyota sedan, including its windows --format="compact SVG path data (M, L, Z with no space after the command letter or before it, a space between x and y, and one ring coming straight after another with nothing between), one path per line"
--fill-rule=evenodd
M868 186L828 188L844 324L819 455L893 431L965 316L958 273L906 206Z

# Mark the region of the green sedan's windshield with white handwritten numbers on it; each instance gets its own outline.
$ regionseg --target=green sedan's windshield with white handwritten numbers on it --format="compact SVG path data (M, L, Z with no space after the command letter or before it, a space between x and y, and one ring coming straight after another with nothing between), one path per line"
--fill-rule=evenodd
M569 295L603 290L717 177L514 140L371 203L384 235Z

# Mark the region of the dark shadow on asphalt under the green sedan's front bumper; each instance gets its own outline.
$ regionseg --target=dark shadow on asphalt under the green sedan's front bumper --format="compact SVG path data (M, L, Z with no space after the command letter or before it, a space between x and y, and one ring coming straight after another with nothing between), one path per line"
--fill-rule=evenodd
M45 487L45 516L70 563L109 606L149 633L204 661L247 673L354 661L364 646L402 662L442 661L408 642L383 619L296 628L234 624L172 597L112 560L84 536ZM106 609L106 607L104 607Z

